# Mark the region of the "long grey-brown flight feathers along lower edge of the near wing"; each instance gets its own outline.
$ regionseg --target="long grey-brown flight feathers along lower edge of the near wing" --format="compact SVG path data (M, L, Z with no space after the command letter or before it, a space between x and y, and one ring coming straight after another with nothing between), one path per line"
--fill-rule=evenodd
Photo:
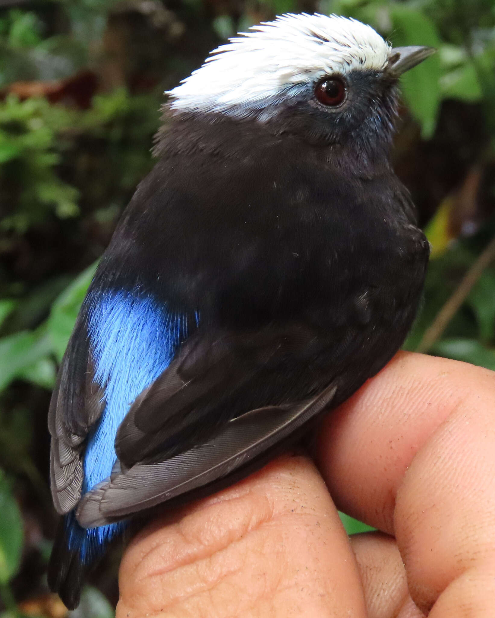
M330 384L300 404L246 412L225 423L204 444L162 462L135 464L125 472L116 466L109 480L83 496L78 522L83 527L105 525L160 502L187 499L193 493L195 497L206 495L222 486L219 481L232 481L256 470L272 447L283 444L331 404L336 389ZM236 472L241 475L234 476Z

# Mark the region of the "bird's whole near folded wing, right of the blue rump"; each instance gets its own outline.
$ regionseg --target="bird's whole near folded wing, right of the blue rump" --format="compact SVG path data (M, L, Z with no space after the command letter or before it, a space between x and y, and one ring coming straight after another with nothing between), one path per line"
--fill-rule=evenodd
M117 433L120 463L81 499L81 525L103 525L185 494L212 491L225 477L260 465L335 395L333 381L295 402L241 413L230 405L236 394L247 399L256 388L251 384L288 368L289 358L300 360L298 350L312 355L318 340L311 329L227 335L206 345L194 339L132 405Z

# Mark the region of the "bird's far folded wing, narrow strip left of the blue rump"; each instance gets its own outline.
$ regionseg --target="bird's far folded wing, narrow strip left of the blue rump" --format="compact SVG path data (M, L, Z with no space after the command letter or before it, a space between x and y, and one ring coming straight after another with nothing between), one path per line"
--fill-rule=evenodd
M93 378L86 315L82 311L62 359L48 412L51 491L61 515L72 510L81 496L81 452L89 428L98 421L104 407L102 389Z

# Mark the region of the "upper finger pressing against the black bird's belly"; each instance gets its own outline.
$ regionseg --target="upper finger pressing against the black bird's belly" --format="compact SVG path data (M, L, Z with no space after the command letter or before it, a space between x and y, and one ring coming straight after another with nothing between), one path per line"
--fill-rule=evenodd
M462 402L495 394L492 371L401 352L323 423L317 460L339 509L394 535L397 489L415 454Z

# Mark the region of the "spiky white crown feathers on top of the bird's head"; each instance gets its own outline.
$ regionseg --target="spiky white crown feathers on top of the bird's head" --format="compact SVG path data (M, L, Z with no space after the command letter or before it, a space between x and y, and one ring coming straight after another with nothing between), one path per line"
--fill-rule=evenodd
M290 85L355 69L382 70L390 46L372 27L338 15L286 14L231 38L166 94L177 111L262 108Z

